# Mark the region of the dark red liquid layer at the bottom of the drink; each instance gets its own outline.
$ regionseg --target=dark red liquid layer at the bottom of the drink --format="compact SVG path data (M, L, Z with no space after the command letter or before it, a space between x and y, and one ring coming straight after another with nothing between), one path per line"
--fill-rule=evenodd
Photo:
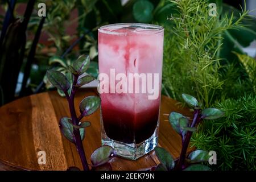
M137 114L104 105L101 109L106 135L119 142L141 143L154 134L158 123L159 106Z

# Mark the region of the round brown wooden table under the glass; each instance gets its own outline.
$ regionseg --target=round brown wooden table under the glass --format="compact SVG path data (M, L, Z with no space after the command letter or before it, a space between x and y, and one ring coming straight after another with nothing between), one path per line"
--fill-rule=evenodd
M77 114L79 102L85 96L95 95L96 89L81 89L75 98ZM188 109L162 96L160 109L159 146L170 151L174 158L181 150L180 136L168 122L168 114L178 111L191 116ZM57 92L44 92L20 98L0 107L0 170L66 170L76 166L82 169L73 143L63 137L59 119L69 116L68 102ZM92 126L86 128L83 141L86 158L101 146L100 110L86 118ZM38 151L46 151L46 164L38 164ZM159 161L154 152L136 161L113 158L113 170L137 170L155 166Z

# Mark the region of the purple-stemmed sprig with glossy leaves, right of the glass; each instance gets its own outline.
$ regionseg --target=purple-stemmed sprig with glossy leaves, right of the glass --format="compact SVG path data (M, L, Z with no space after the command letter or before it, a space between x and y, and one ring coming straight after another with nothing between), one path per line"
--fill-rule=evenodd
M160 164L152 169L160 171L184 170L184 171L208 171L210 168L201 164L209 160L209 154L205 150L195 150L187 156L187 149L191 140L192 133L197 131L198 125L203 119L218 119L223 117L224 113L216 108L201 109L201 104L188 94L182 94L183 100L193 107L193 119L189 119L184 115L172 112L169 115L169 121L174 130L180 135L182 148L179 159L175 162L174 158L161 147L155 148L155 154L160 160Z

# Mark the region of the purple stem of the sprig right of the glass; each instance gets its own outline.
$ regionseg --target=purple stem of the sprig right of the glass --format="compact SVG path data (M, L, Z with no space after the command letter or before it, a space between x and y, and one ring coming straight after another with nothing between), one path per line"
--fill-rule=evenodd
M196 124L200 122L200 120L201 120L201 118L200 118L200 109L195 109L194 114L193 114L193 121L192 121L190 127L195 127ZM191 136L192 136L192 132L187 131L187 134L185 136L185 140L183 142L182 149L181 149L181 152L180 152L180 159L179 159L179 162L177 164L177 170L182 170L184 168L184 162L185 162L185 158L186 158L186 155L187 155L188 144L190 142Z

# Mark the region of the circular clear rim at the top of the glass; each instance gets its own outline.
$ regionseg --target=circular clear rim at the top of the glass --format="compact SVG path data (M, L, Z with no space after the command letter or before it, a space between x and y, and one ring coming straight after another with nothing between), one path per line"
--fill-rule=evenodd
M144 26L144 27L147 27L148 29L151 29L151 28L158 29L156 31L146 32L142 35L159 34L160 32L164 31L164 27L156 25L156 24L148 24L148 23L113 23L113 24L106 24L104 26L101 26L100 28L98 28L98 32L101 32L101 33L104 33L104 34L127 35L127 32L117 32L117 31L109 31L109 30L104 30L103 29L103 28L106 28L106 27L114 27L114 26L122 26L122 25L123 26L131 26L131 25L133 25L133 26Z

